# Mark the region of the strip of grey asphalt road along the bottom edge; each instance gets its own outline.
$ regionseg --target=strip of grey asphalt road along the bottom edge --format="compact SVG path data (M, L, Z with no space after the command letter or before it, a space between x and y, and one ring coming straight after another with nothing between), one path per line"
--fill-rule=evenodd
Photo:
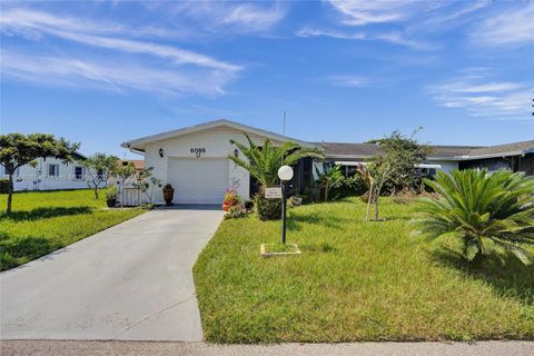
M146 342L0 342L2 356L532 356L533 342L462 343L355 343L355 344L280 344L280 345L208 345L204 343L146 343Z

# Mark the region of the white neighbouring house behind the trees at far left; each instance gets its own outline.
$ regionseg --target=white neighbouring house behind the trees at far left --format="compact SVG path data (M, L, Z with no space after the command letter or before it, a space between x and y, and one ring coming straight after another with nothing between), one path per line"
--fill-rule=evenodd
M86 169L79 164L86 157L77 152L73 158L75 160L67 165L53 157L38 158L34 167L19 167L13 175L14 191L87 188ZM8 178L2 166L0 177Z

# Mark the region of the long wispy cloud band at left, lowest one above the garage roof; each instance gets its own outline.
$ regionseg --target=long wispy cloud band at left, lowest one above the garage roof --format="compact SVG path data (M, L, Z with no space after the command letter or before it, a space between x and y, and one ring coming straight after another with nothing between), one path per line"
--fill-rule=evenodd
M75 88L123 89L164 95L224 93L233 73L207 69L172 70L109 59L79 60L38 53L2 51L2 76L33 83Z

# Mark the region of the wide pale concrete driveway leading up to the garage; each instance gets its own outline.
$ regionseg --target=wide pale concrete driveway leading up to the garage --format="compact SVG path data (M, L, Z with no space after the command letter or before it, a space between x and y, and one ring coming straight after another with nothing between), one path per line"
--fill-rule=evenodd
M0 274L3 339L202 339L192 279L220 209L151 210Z

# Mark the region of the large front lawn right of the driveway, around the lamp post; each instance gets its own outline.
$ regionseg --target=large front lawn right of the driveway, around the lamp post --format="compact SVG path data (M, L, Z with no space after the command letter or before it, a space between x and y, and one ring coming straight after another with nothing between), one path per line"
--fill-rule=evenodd
M534 339L534 266L478 268L409 236L412 205L355 199L289 210L300 256L261 258L279 221L225 220L195 266L215 343Z

